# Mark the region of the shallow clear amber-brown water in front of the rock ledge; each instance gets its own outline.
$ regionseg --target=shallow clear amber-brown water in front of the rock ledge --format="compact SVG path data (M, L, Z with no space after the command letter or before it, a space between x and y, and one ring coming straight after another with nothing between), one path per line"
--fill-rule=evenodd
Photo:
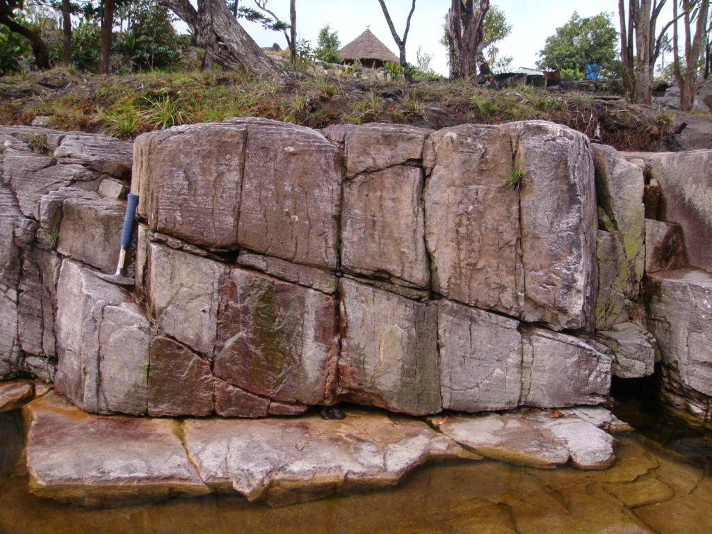
M0 478L0 533L712 533L712 478L636 434L606 471L496 461L419 468L387 491L283 508L234 496L88 510Z

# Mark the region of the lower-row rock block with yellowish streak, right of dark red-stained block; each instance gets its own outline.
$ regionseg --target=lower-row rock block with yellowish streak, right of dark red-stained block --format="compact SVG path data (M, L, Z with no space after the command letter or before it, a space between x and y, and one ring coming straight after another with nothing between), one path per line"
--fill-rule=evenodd
M437 308L340 281L338 397L413 415L441 410Z

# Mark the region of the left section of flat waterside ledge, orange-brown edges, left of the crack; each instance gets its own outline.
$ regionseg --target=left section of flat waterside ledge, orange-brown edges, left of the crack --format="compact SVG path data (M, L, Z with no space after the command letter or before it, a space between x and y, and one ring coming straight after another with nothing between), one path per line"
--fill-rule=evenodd
M50 393L25 408L31 493L122 506L210 493L171 419L86 414Z

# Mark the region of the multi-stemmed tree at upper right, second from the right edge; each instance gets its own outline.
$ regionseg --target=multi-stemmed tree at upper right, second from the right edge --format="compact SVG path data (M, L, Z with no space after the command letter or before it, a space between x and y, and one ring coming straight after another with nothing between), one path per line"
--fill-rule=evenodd
M656 25L667 0L618 0L621 26L621 63L625 95L631 102L652 100L653 69L665 46L665 33L676 18L656 33ZM677 0L673 0L676 2Z

